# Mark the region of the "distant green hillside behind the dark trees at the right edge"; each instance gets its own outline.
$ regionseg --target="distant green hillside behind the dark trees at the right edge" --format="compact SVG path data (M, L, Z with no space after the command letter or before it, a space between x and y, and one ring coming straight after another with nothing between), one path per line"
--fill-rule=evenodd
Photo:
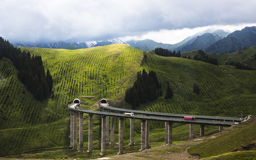
M191 52L184 52L181 53L182 56L190 55L191 59L194 58L195 54L198 54L198 50L191 51ZM206 55L209 55L211 58L215 58L218 60L220 65L225 65L226 62L241 62L243 65L251 67L253 69L256 69L256 46L250 46L246 49L238 50L234 53L223 53L223 54L212 54L207 53Z

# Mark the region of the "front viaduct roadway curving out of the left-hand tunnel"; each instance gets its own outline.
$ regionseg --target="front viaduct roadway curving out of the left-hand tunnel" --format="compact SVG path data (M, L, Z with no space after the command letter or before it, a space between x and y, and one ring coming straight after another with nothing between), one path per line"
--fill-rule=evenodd
M111 113L105 111L95 111L95 110L88 110L88 109L76 109L76 106L79 106L79 103L71 103L68 108L73 111L78 111L86 114L93 114L93 115L101 115L101 116L114 116L114 117L123 117L123 118L134 118L134 119L149 119L153 121L164 121L164 122L175 122L175 123L189 123L189 124L201 124L201 125L215 125L215 126L231 126L234 125L234 122L220 122L214 120L185 120L182 118L177 117L160 117L160 116L149 116L147 115L134 115L134 116L127 116L120 113ZM112 107L113 108L113 107ZM133 110L132 110L133 111ZM134 113L134 112L133 112ZM154 114L157 115L157 114Z

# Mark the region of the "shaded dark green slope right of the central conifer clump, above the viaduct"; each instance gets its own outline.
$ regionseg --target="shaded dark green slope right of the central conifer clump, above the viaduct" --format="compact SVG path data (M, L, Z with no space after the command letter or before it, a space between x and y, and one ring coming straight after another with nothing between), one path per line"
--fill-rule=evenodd
M239 116L243 110L245 114L256 114L253 107L256 102L255 71L161 57L153 52L147 57L143 66L156 71L163 93L165 82L170 83L174 98L159 98L150 107L142 106L145 110L222 116ZM199 95L193 92L194 83L199 85Z

